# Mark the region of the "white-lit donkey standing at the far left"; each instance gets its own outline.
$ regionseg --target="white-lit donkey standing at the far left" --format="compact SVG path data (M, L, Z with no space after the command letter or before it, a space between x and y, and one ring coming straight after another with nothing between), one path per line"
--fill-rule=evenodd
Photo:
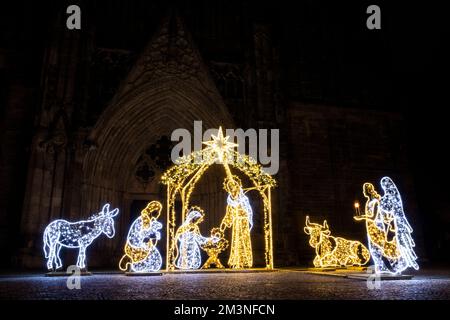
M114 220L119 209L109 210L109 203L103 206L101 212L91 216L88 220L69 222L58 219L51 222L44 231L44 253L47 258L47 268L62 267L59 252L62 247L79 248L77 267L86 268L86 248L102 233L108 238L114 237Z

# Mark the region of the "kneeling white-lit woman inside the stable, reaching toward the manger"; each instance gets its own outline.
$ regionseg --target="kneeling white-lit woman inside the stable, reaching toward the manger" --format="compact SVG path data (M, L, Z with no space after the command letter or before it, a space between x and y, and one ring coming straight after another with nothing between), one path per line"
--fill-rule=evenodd
M202 263L200 246L208 241L218 239L208 239L200 234L198 224L203 221L205 214L202 209L192 207L184 223L178 228L175 238L178 241L178 254L175 265L179 269L198 269Z

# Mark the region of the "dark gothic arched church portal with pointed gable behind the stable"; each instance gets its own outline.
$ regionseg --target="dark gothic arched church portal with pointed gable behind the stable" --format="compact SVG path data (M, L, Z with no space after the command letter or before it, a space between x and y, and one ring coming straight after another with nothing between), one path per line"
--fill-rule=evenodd
M104 202L121 209L117 236L99 244L93 253L102 261L118 262L132 211L138 210L139 203L164 202L160 171L155 170L148 149L175 129L192 131L196 120L203 122L203 129L234 127L189 34L180 19L172 17L163 23L88 136L93 147L83 160L81 212L95 212Z

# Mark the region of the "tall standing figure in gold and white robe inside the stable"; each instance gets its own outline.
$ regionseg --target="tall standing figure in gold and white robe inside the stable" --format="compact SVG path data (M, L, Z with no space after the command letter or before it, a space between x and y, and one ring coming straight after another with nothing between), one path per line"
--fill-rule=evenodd
M253 265L250 230L253 227L253 211L242 183L236 176L225 179L228 192L227 211L220 226L221 231L232 228L231 252L228 265L232 268L250 268Z

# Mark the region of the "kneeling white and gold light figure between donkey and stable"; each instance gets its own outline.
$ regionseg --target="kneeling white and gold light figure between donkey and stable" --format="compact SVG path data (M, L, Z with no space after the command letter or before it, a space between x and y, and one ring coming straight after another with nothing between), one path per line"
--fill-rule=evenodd
M125 244L125 254L119 268L131 272L155 272L161 269L162 257L156 245L161 239L162 224L158 222L162 205L158 201L147 204L132 223Z

